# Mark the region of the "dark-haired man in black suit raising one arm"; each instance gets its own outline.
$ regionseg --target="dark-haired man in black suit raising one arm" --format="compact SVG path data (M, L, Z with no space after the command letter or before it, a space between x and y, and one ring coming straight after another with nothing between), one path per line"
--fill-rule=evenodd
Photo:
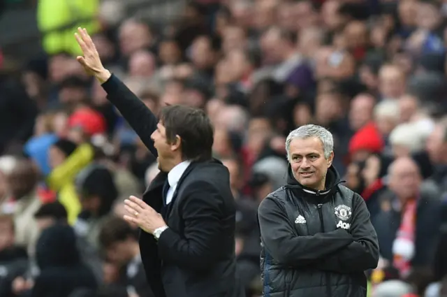
M157 297L241 296L235 277L235 201L229 174L212 159L213 130L202 110L169 106L160 120L101 64L85 29L78 61L157 157L161 173L124 218L140 226L147 281Z

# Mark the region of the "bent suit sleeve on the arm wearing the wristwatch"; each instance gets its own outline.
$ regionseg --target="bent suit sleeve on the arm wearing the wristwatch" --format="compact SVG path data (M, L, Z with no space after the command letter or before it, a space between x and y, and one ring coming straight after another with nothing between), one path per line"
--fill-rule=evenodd
M221 209L223 199L219 191L208 182L189 184L180 206L184 221L182 236L173 229L166 229L159 238L159 256L165 263L191 270L207 270L216 263L216 250L222 244Z

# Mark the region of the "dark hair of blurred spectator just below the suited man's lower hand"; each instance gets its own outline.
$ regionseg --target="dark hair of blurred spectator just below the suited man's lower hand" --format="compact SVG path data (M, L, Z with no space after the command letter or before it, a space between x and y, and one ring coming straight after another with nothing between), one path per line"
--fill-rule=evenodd
M99 231L99 245L102 249L107 249L117 242L122 242L128 238L135 238L135 232L131 225L121 217L114 215L104 219Z

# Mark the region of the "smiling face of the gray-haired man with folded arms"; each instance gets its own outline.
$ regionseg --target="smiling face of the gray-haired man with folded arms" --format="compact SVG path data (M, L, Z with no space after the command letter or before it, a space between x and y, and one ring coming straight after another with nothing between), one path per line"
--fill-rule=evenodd
M295 179L305 187L323 190L334 153L324 157L323 143L316 137L295 138L290 146L290 162Z

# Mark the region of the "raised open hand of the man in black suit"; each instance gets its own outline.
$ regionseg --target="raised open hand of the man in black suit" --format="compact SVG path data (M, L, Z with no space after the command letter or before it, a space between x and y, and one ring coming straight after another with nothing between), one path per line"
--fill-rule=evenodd
M75 33L76 41L82 50L83 56L78 56L76 59L82 65L88 75L96 77L99 82L103 83L110 78L110 71L104 68L101 63L98 51L87 33L87 29L78 28Z

